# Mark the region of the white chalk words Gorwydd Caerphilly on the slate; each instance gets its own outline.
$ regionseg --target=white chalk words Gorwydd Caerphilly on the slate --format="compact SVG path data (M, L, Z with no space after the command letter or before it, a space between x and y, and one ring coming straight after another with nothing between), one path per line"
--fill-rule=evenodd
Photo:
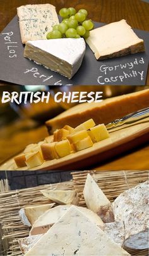
M134 61L130 61L124 64L114 65L114 66L106 66L101 65L99 70L103 75L100 75L97 79L98 84L108 84L111 82L124 82L127 79L133 79L138 77L141 81L145 79L143 70L136 70L135 67L145 65L145 60L143 58L137 59ZM107 74L111 75L106 77ZM112 75L112 72L119 72L118 75Z

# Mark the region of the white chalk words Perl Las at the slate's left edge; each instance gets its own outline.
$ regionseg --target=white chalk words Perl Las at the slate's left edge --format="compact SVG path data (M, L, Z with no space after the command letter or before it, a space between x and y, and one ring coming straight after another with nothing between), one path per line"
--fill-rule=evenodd
M17 58L16 48L18 48L18 42L13 42L11 36L13 32L2 33L4 35L4 44L8 49L9 58Z

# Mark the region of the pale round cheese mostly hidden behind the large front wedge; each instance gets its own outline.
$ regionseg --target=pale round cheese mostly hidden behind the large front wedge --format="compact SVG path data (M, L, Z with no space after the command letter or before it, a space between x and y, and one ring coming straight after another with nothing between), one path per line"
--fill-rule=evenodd
M57 207L51 208L47 210L44 214L40 215L39 219L33 223L32 229L30 230L30 235L34 234L42 234L46 233L51 226L61 218L67 210L71 207L71 205L59 205ZM104 227L104 222L100 219L100 217L84 207L76 206L83 214L90 219L93 223L95 223L99 227Z

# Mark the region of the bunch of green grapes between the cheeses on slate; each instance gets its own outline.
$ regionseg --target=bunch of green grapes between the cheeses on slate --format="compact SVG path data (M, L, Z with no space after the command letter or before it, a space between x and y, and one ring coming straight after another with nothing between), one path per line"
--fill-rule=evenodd
M59 25L54 25L51 32L47 34L47 39L56 38L88 38L90 30L93 29L92 20L86 20L88 12L81 9L76 13L75 8L62 8L59 15L63 21Z

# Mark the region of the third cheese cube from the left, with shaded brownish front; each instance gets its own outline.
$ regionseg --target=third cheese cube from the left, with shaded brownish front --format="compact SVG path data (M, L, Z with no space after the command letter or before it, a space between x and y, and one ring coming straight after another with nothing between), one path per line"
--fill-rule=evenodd
M42 156L44 160L53 160L59 158L55 148L56 143L45 143L41 145Z

